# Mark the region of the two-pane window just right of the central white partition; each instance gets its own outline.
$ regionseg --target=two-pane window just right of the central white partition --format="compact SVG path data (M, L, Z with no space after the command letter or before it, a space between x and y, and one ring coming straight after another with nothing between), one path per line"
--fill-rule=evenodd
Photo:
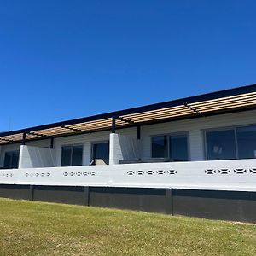
M154 136L151 147L154 158L170 158L173 161L189 160L186 134Z

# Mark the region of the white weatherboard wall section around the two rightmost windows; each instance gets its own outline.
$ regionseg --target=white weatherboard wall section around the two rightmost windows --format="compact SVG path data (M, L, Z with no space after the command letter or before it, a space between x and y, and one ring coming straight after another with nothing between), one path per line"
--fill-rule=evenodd
M152 135L187 132L189 160L205 160L204 130L239 125L256 125L256 110L142 126L143 158L151 157Z

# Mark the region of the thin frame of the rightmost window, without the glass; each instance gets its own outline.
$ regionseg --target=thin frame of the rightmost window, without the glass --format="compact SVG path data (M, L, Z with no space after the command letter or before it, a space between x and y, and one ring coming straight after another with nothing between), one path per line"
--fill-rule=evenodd
M239 158L239 149L238 149L238 142L237 142L237 129L242 127L249 127L249 126L256 126L256 124L248 124L248 125L232 125L232 126L225 126L225 127L218 127L218 128L210 128L210 129L204 129L203 130L203 138L204 138L204 159L208 160L207 158L207 132L208 131L227 131L227 130L233 130L235 135L235 151L236 151L236 159L235 160L242 160ZM251 158L253 159L253 158ZM210 161L210 160L208 160Z

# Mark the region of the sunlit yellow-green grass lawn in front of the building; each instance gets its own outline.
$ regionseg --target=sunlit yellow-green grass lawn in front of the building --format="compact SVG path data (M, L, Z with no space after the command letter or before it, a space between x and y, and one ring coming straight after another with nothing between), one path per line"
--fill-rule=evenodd
M0 199L0 255L256 255L256 225Z

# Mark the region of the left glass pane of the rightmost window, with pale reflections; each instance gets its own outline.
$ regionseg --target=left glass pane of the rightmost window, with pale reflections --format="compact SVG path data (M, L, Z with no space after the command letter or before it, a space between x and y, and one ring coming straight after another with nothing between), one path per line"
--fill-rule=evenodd
M207 131L207 160L236 159L235 131Z

